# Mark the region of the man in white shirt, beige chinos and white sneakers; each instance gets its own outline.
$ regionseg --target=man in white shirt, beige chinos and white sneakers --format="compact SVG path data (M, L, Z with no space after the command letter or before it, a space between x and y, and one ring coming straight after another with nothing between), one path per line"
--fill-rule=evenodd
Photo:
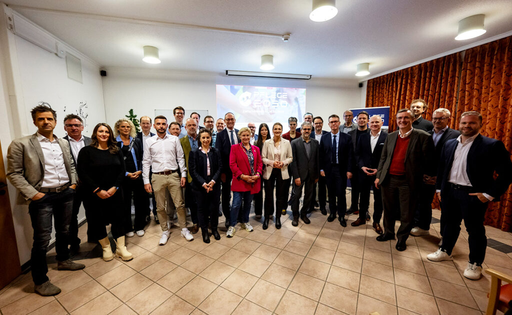
M156 136L146 140L144 145L144 157L142 159L142 178L144 189L151 193L155 189L157 199L157 214L162 229L162 237L159 244L165 245L169 238L167 226L167 213L165 212L166 190L173 199L178 215L178 223L181 228L181 236L187 241L194 237L187 229L185 203L183 201L183 190L185 187L187 169L185 157L178 137L167 133L167 118L165 116L155 117ZM153 177L150 184L150 167ZM153 188L152 188L153 187Z

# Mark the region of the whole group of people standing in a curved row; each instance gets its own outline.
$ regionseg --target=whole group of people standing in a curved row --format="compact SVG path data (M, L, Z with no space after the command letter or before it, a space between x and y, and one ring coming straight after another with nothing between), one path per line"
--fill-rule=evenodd
M322 117L306 113L298 127L297 118L290 117L290 131L283 134L281 123L271 128L262 123L258 133L254 123L236 129L232 113L215 122L206 116L203 127L198 113L184 119L185 109L178 106L173 122L164 116L144 116L140 118L142 131L137 133L132 121L120 119L114 130L106 123L97 124L88 138L82 135L81 118L68 115L63 120L67 136L60 139L53 134L55 111L36 106L31 114L38 131L14 140L7 154L7 176L19 191L19 200L29 203L35 291L43 296L60 292L47 277L52 217L58 269L84 267L70 260L70 252L78 252L81 242L77 215L82 203L88 241L99 242L103 260L110 261L114 256L133 259L125 237L144 235L151 202L162 230L160 245L169 239L174 215L182 237L192 241L193 234L201 230L202 240L209 243L209 231L215 239L221 238L222 215L226 237L236 233L239 222L242 229L252 232L253 200L255 218L263 218L264 230L271 218L275 229L281 228L288 205L291 224L296 227L299 220L309 224L308 214L316 207L327 215L327 202L327 221L338 219L346 227L346 215L356 214L351 226L357 227L371 219L372 190L372 228L377 241L396 236L398 251L407 249L409 235L429 234L431 202L437 193L442 239L439 250L427 258L453 259L464 220L470 246L464 276L477 280L485 257L487 202L499 199L508 188L512 162L502 142L479 133L482 116L476 111L461 115L457 131L448 127L449 110L436 109L430 122L422 118L426 108L425 101L414 100L410 108L398 110L398 130L389 134L382 129L382 118L370 117L366 111L357 114L355 123L350 110L344 113L343 124L339 116L329 116L330 132L323 130ZM395 233L396 220L400 226ZM109 224L115 252L106 230Z

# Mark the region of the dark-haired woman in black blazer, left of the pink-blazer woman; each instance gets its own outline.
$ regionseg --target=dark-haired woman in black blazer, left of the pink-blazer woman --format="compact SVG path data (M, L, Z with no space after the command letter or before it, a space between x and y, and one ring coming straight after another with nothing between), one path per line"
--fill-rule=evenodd
M209 243L208 222L211 234L216 240L221 239L219 225L219 202L221 199L221 154L211 146L211 131L202 128L198 134L199 148L190 151L188 168L192 177L192 190L197 201L197 215L203 242Z

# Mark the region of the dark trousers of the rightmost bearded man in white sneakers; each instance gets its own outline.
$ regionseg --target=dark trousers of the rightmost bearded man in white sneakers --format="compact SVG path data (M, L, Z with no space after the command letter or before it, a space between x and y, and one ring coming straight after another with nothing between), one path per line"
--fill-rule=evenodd
M450 185L450 183L446 183ZM455 243L459 238L460 223L464 220L464 226L468 234L467 242L470 247L470 262L481 265L485 258L487 237L483 226L487 202L484 204L477 196L470 196L471 189L445 188L441 191L442 211L445 212L446 226L443 232L441 249L451 255Z

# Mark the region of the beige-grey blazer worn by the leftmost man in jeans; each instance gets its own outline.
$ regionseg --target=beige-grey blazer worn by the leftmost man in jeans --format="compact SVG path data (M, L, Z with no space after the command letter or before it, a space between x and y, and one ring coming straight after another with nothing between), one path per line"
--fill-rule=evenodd
M57 138L54 135L55 138ZM78 176L71 156L69 142L63 138L57 139L62 149L64 165L71 181L77 184ZM15 139L7 149L7 178L18 189L17 204L27 204L41 188L45 176L45 156L37 140L37 133Z

